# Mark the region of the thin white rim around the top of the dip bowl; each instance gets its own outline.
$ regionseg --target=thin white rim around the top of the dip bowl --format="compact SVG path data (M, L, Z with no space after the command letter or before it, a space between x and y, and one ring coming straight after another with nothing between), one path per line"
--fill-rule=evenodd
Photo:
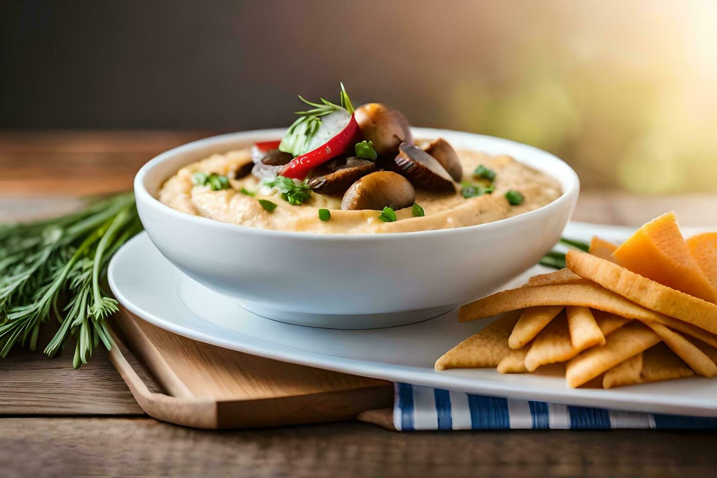
M527 211L522 214L518 214L516 216L507 217L504 219L498 219L498 221L490 221L483 224L474 224L473 226L462 226L462 227L452 227L447 229L429 229L427 231L407 231L407 232L390 232L385 234L377 234L377 233L337 233L337 234L321 234L318 232L306 232L306 231L280 231L277 229L262 229L258 227L252 227L252 226L244 226L244 224L232 224L228 222L222 222L217 221L215 219L209 219L203 216L194 216L192 214L186 214L181 211L177 211L176 209L172 209L170 206L167 206L166 204L163 204L161 201L156 199L146 188L145 186L145 179L148 174L153 171L154 168L158 167L163 163L164 161L168 161L174 156L176 156L179 153L186 153L188 151L204 148L207 146L212 145L212 143L222 143L222 141L228 141L232 139L241 140L242 138L249 139L249 138L256 138L257 140L267 140L266 138L275 138L277 135L282 135L285 132L285 128L270 128L270 129L262 129L262 130L249 130L249 131L240 131L235 133L225 133L222 135L214 135L209 136L208 138L202 138L200 140L191 141L190 143L185 143L184 145L179 145L176 148L171 148L170 150L166 150L163 153L158 154L154 158L152 158L150 161L145 163L137 172L135 178L134 178L134 192L135 192L135 200L136 201L142 201L143 204L146 206L149 206L153 209L155 209L158 213L161 214L168 214L169 216L173 216L176 219L188 221L190 223L196 224L197 226L206 226L209 228L214 229L220 229L223 231L236 231L236 232L243 232L245 234L254 234L256 236L270 236L270 237L286 237L287 239L302 239L302 240L312 240L312 241L338 241L338 242L356 242L356 241L401 241L406 239L418 239L419 237L423 236L447 236L447 235L455 235L455 234L473 234L478 231L492 231L494 229L502 228L503 226L507 224L511 224L513 222L521 221L521 218L527 218L529 216L534 216L536 214L545 214L547 210L549 209L558 209L559 206L565 203L569 203L574 196L577 196L580 190L580 180L577 176L577 173L571 168L571 166L563 161L561 158L558 158L552 153L549 153L545 150L541 150L540 148L536 148L535 146L526 145L524 143L518 143L517 141L508 140L505 138L498 138L495 136L490 135L481 135L478 133L468 133L465 131L457 131L457 130L445 130L445 129L437 129L437 128L414 128L412 127L412 132L419 133L418 136L420 137L423 132L423 134L428 133L429 135L435 135L440 133L449 133L450 135L465 135L466 137L473 137L475 139L479 140L497 140L502 143L506 143L507 145L516 146L519 148L523 148L526 151L530 151L531 153L536 153L542 156L545 156L546 158L549 158L550 161L556 161L557 163L561 163L564 168L566 168L566 178L565 181L567 183L567 188L564 188L563 193L561 196L559 196L554 201L551 201L549 204L546 204L545 206L541 206L538 209L533 209L533 211ZM195 160L199 161L199 160ZM519 158L516 158L516 161L522 162ZM550 174L550 173L546 173ZM553 176L555 178L555 176ZM165 179L166 181L166 179ZM569 219L569 218L568 218Z

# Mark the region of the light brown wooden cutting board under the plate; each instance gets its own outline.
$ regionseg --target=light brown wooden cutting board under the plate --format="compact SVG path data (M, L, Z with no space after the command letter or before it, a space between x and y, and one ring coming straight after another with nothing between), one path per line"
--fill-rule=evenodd
M150 416L203 429L362 418L392 428L390 382L295 365L196 342L126 310L108 355ZM376 411L376 409L384 409Z

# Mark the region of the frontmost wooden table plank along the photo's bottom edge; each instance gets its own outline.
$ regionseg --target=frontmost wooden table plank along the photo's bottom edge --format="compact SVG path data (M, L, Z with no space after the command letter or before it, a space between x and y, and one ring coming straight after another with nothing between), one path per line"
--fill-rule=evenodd
M710 431L401 434L359 423L203 431L76 418L2 419L0 426L9 476L713 477L717 467Z

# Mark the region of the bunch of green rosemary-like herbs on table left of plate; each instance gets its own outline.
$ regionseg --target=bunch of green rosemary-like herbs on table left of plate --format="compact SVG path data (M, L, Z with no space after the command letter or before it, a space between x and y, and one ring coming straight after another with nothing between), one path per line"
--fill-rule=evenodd
M100 341L109 349L104 320L118 305L100 279L117 249L141 230L132 193L59 218L0 226L0 357L18 343L36 350L51 317L60 328L44 349L50 357L72 336L74 368Z

